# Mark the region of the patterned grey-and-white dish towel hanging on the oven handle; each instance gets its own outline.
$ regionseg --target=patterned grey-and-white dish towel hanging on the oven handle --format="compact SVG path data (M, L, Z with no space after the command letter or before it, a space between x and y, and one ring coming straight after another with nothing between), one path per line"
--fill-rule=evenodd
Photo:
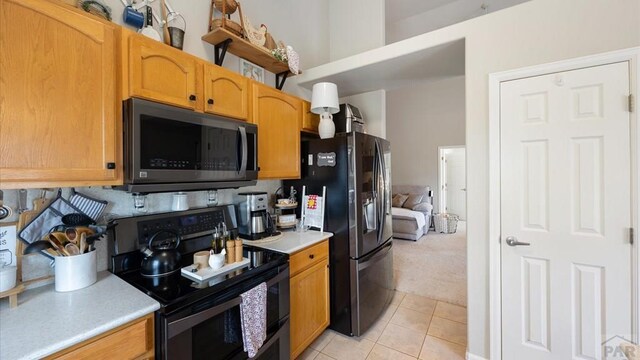
M267 283L240 295L240 324L244 351L252 358L267 339Z

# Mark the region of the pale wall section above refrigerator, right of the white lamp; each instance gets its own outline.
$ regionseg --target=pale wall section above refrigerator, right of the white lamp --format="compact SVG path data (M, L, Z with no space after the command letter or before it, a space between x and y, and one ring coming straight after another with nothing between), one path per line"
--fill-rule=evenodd
M345 96L340 98L340 103L349 103L355 105L364 119L364 128L367 134L387 137L386 127L386 92L385 90L376 90L357 95Z

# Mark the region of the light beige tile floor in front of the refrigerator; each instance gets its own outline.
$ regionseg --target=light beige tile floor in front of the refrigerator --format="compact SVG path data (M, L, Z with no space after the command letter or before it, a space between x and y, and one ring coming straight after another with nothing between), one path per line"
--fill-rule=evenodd
M467 347L467 309L396 292L361 337L326 330L299 360L457 360Z

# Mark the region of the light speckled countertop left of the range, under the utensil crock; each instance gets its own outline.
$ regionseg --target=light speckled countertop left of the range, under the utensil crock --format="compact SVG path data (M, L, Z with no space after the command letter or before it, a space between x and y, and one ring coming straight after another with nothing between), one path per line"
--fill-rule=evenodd
M84 289L54 285L0 301L0 359L40 359L154 312L160 304L108 271Z

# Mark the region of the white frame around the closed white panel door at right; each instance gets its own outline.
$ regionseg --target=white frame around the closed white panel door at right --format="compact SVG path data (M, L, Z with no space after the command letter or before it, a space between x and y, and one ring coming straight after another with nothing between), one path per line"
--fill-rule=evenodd
M640 212L638 194L640 193L640 128L638 122L638 60L640 47L589 55L547 64L534 65L521 69L489 74L489 349L491 359L502 359L502 285L501 285L501 247L500 247L500 83L527 77L546 75L562 71L576 70L617 62L628 62L630 92L634 97L634 109L630 114L631 146L631 222L638 233ZM632 245L632 341L638 343L640 327L640 237L635 235Z

